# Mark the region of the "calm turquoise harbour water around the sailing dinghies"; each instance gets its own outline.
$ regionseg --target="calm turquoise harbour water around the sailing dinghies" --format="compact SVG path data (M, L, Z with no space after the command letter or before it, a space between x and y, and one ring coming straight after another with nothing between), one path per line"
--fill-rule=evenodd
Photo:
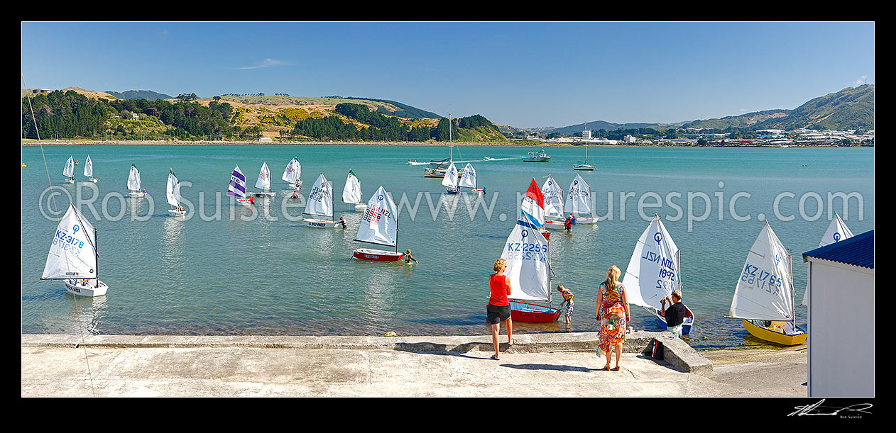
M445 147L45 147L50 182L75 199L81 192L76 204L98 229L99 276L110 287L105 297L75 300L61 282L39 280L56 222L41 214L41 208L46 212L52 205L47 206L47 195L40 200L47 189L40 148L22 147L27 164L22 168L22 332L79 334L82 327L95 334L147 335L487 334L487 276L513 229L518 194L533 177L540 185L552 174L565 191L575 174L582 174L596 197L601 222L577 225L570 235L554 232L551 241L552 282L575 293L572 331L597 330L593 318L599 281L611 265L625 272L635 242L657 213L681 250L684 301L697 317L690 343L699 348L761 344L739 320L725 317L746 252L762 228L760 214L793 254L797 304L806 288L802 253L817 247L830 223L829 210L837 211L853 233L874 228L874 149L591 148L589 161L598 167L594 172L572 170L583 157L582 148L546 148L550 163L522 163L520 157L533 150L538 149L455 147L455 161L477 161L478 184L487 187L487 196L472 218L464 198L472 204L473 196L445 196L434 218L431 208L439 206L444 187L438 179L423 177L424 166L405 163L409 158L442 159L448 156ZM97 191L82 183L82 165L75 167L78 183L62 183L62 168L71 155L82 164L90 155L100 178ZM510 159L481 161L485 156ZM337 219L345 216L348 230L302 224L304 206L286 200L289 192L280 181L291 157L302 164L306 188L321 173L332 181ZM251 209L233 206L226 195L229 174L240 166L252 190L265 161L278 195L260 200L253 218ZM151 212L150 200L115 194L125 193L132 163L152 196ZM169 168L184 183L182 194L192 203L187 208L196 212L185 220L167 216ZM358 175L365 200L379 185L392 193L402 208L399 248L412 250L417 265L351 259L356 248L388 248L353 241L361 215L340 201L349 168ZM747 221L737 221L729 210L739 192L749 196L741 194L735 212L750 216ZM779 214L796 216L792 221L774 213L776 197L787 192L793 195L780 198ZM829 206L828 194L837 192L857 192L861 207L855 197L846 208L840 199ZM627 196L625 206L621 194ZM821 198L820 209L814 194ZM710 205L703 218L707 205L702 195ZM657 197L662 206L645 208L642 218L639 200L649 205ZM94 198L97 215L87 203ZM800 216L801 199L808 216L821 211L816 220ZM131 208L132 203L137 205ZM455 205L450 216L446 208ZM57 197L56 206L64 209L65 198ZM678 220L676 207L683 214ZM695 216L690 224L689 209ZM657 329L649 313L632 310L633 327ZM797 323L805 327L805 308L797 307ZM566 329L558 323L515 323L514 331Z

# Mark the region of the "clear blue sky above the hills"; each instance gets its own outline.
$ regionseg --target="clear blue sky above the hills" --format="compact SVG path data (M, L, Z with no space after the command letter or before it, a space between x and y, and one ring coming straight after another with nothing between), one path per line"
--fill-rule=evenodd
M874 84L874 22L22 22L22 74L383 98L519 127L671 123Z

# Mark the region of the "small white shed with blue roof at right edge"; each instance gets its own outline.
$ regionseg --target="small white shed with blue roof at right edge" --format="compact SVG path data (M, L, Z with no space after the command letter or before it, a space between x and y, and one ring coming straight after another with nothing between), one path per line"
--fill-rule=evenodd
M808 395L874 396L874 230L807 251Z

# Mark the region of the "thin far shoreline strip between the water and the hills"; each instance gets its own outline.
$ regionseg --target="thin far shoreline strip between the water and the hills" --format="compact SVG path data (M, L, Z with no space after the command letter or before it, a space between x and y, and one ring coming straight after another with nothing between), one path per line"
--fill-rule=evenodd
M444 142L431 142L431 141L210 141L210 140L196 140L196 141L144 141L144 140L135 140L135 141L125 141L125 140L110 140L110 141L90 141L90 140L33 140L33 141L22 141L22 147L31 147L31 146L251 146L251 145L263 145L263 146L434 146L434 147L444 147L448 143ZM463 141L454 141L454 146L475 146L475 147L517 147L517 148L559 148L559 147L572 147L578 148L582 147L581 144L570 144L570 143L482 143L482 142L463 142ZM831 145L788 145L787 148L782 148L777 145L719 145L719 146L673 146L673 145L658 145L658 144L590 144L588 145L590 148L670 148L670 149L744 149L744 148L756 148L756 149L823 149L823 148L831 148L831 149L852 149L852 148L874 148L874 146L831 146Z

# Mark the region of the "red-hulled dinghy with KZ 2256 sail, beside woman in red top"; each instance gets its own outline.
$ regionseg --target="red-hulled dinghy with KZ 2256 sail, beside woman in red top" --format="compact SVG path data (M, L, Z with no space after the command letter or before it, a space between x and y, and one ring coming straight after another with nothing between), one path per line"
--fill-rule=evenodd
M560 309L551 307L550 242L539 236L538 225L526 212L504 243L501 259L507 260L504 275L513 288L507 296L511 318L521 322L553 322L560 317ZM547 302L541 305L532 302Z

